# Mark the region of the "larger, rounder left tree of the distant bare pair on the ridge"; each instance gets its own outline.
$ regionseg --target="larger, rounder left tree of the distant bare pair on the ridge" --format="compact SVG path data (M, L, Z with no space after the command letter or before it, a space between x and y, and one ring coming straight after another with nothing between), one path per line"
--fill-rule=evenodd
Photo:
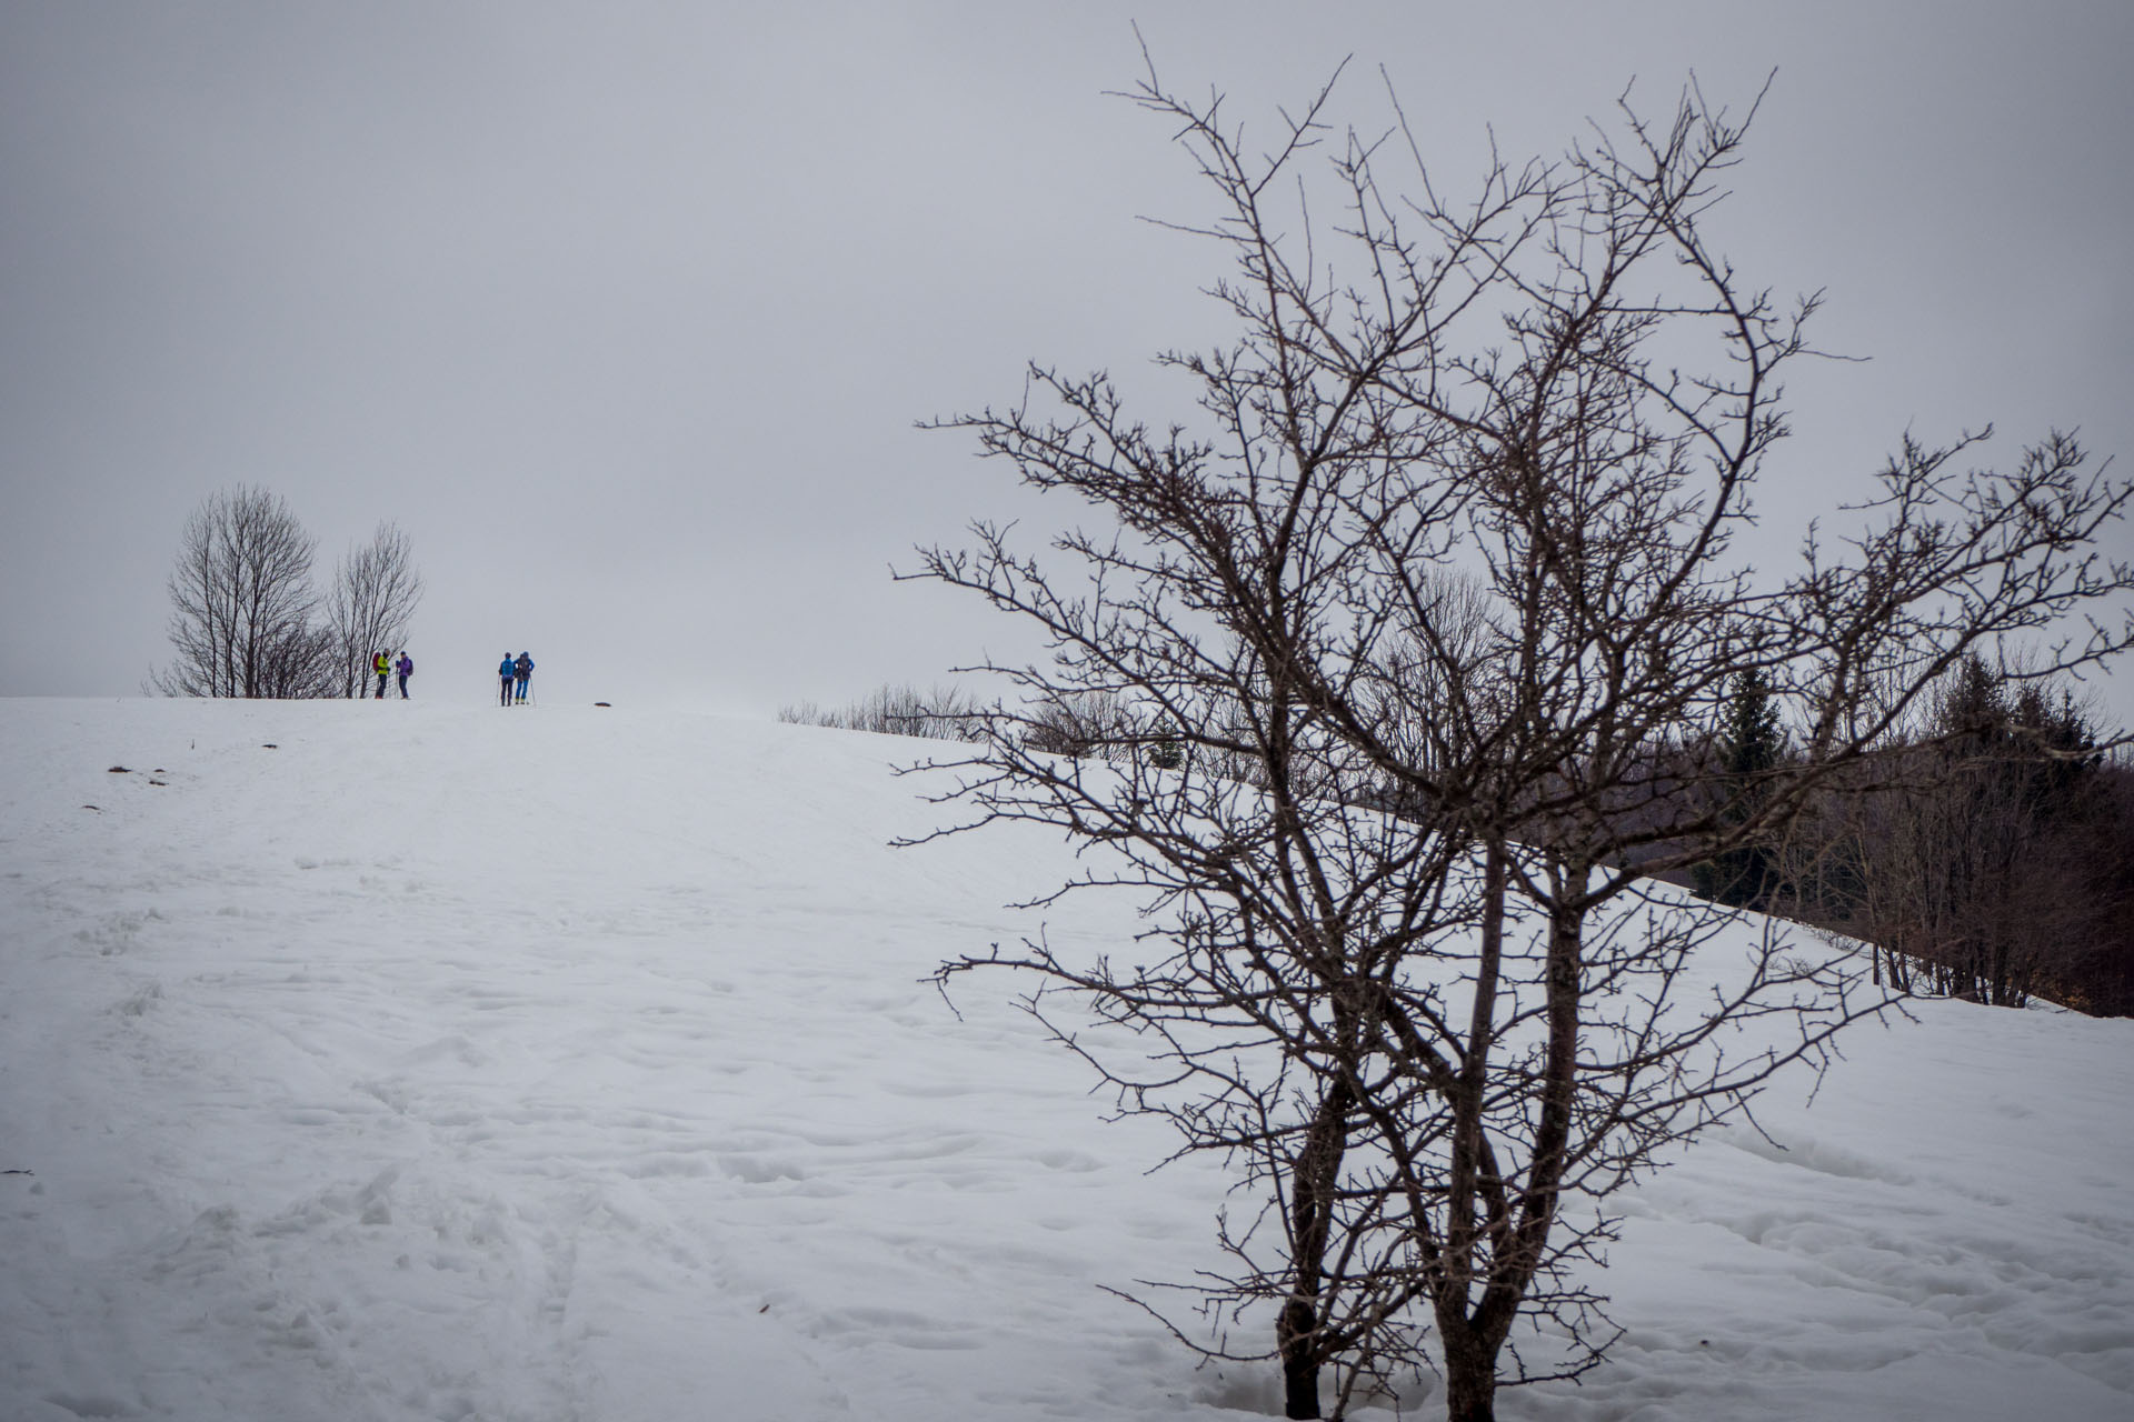
M149 684L186 697L333 695L331 640L314 627L316 544L265 488L203 501L169 582L177 657Z

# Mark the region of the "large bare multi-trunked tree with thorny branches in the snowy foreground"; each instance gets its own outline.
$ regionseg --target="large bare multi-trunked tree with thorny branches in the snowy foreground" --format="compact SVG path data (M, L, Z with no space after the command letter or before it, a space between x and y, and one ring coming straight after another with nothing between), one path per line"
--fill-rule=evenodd
M1662 126L1626 107L1622 136L1498 162L1451 203L1398 122L1327 126L1329 90L1265 151L1221 100L1152 70L1137 90L1219 194L1187 230L1236 264L1214 288L1236 341L1161 360L1197 414L1152 431L1105 377L1033 369L1016 409L943 422L1101 518L1056 539L1071 571L990 524L922 552L918 576L1048 640L984 669L1035 706L1112 697L1187 757L1061 759L992 716L943 834L1037 821L1110 846L1061 893L1146 895L1150 962L1039 938L941 979L1035 974L1029 1006L1125 1111L1238 1166L1231 1266L1193 1290L1221 1324L1272 1322L1268 1343L1180 1337L1278 1358L1291 1418L1321 1416L1325 1371L1340 1416L1428 1364L1481 1422L1502 1381L1600 1360L1583 1269L1607 1196L1884 1006L1842 951L1773 934L1703 972L1724 910L1654 900L1641 872L1782 838L1818 787L1872 782L1970 650L2123 599L2134 569L2093 539L2130 488L2057 435L2006 475L1957 475L1968 439L1908 441L1840 556L1810 542L1763 584L1731 542L1816 303L1743 288L1701 230L1746 119L1694 92ZM1381 183L1411 158L1413 196ZM2134 618L2091 623L2055 665L2130 644ZM1679 755L1741 676L1795 750Z

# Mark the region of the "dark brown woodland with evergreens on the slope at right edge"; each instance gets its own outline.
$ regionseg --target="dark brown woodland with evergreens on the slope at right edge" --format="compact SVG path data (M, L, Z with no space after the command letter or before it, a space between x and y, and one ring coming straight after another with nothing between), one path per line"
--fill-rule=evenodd
M2134 1015L2134 763L2113 740L2066 686L1968 659L1872 780L1840 776L1786 842L1697 887L1859 938L1906 991Z

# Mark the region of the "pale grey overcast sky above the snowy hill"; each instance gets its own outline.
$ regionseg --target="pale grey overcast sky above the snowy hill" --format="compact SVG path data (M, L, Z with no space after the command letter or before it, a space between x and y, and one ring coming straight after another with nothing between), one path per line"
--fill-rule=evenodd
M1379 124L1383 66L1451 181L1633 79L1665 111L1775 70L1716 230L1869 360L1790 382L1773 522L1906 429L2134 458L2125 0L0 0L0 695L134 695L186 516L233 484L284 495L322 573L408 531L420 695L527 648L553 697L768 716L1012 646L890 582L1022 512L913 424L1031 358L1221 335L1221 258L1137 222L1206 194L1105 96L1135 19L1257 132L1349 55L1336 115Z

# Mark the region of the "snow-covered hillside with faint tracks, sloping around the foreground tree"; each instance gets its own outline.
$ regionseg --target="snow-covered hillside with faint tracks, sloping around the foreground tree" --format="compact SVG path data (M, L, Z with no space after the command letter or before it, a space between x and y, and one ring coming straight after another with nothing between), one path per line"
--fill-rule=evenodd
M1212 1260L1212 1166L1146 1175L1012 979L920 981L1067 863L886 849L924 750L0 701L0 1422L1276 1411L1101 1292ZM1788 1149L1626 1200L1613 1362L1500 1413L2134 1418L2130 1102L2128 1021L1863 1028Z

